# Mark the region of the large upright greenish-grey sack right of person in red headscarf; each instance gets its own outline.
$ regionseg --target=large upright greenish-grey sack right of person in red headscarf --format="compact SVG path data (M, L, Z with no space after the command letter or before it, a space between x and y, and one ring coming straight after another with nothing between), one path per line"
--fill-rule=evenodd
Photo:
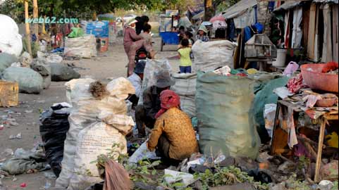
M247 77L198 72L195 99L203 153L257 158L261 142L249 115L253 83Z

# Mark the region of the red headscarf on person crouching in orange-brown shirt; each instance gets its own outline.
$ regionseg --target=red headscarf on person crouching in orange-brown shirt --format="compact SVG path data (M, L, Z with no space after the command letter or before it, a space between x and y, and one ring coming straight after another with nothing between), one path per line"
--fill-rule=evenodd
M161 109L156 113L155 118L159 118L160 115L166 112L170 108L180 107L180 96L175 94L174 91L164 90L160 94Z

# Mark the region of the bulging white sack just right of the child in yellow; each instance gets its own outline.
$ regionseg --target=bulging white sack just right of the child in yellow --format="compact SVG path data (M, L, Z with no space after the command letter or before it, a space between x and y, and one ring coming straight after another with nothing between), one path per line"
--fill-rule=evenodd
M192 68L197 71L210 71L228 65L233 68L233 51L237 46L228 40L202 42L198 40L192 46L195 60Z

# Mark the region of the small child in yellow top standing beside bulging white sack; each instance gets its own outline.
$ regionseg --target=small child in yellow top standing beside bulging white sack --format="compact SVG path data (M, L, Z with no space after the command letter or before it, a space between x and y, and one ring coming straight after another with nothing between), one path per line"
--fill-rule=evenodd
M190 58L191 48L188 39L181 40L181 48L178 50L180 57L180 73L192 72L192 61Z

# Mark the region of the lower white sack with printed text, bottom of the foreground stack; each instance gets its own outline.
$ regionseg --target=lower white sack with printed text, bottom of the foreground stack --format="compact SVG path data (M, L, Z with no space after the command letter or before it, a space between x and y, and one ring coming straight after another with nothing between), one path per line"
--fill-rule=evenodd
M113 144L119 144L119 148L115 149L115 159L118 159L118 153L127 153L125 136L114 127L97 122L82 129L75 150L74 174L68 189L85 189L93 183L101 182L99 170L93 161L97 160L100 154L109 153ZM91 172L90 175L87 175L88 171Z

